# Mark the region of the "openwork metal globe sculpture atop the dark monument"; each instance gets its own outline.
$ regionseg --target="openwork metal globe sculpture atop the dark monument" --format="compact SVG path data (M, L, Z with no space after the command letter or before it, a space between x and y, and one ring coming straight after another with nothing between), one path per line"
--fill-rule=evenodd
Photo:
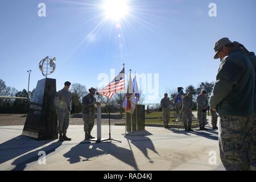
M43 76L47 77L47 75L50 75L53 73L56 69L55 64L56 58L55 57L45 57L43 60L39 63L39 69L42 72Z

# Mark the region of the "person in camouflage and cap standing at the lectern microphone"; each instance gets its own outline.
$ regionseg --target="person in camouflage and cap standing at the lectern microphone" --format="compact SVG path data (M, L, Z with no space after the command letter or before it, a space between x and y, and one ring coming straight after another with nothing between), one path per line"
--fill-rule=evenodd
M96 94L96 89L90 88L89 94L87 94L84 98L82 98L82 119L84 120L84 132L85 132L85 140L94 139L90 132L94 126L94 120L96 115L96 98L94 95Z

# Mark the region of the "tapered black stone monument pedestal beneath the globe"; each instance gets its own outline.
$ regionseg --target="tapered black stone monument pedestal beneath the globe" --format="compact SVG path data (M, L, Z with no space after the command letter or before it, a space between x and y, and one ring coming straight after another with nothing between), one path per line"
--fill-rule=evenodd
M55 79L44 78L38 81L22 135L38 140L58 138L55 94Z

